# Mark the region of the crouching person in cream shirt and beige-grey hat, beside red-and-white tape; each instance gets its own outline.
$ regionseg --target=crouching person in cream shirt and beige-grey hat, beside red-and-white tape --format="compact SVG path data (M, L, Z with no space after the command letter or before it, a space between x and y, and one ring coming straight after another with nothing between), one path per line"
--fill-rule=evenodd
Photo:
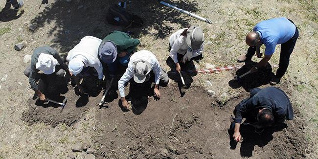
M170 57L176 64L176 70L181 71L180 63L202 59L204 49L204 34L198 25L191 25L173 33L169 38Z

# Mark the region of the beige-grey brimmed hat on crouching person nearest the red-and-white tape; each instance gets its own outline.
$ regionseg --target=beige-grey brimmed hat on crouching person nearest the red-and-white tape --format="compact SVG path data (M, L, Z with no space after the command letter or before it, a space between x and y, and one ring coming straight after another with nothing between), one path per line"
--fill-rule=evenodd
M191 25L186 31L186 44L196 50L201 47L204 42L202 28L198 25Z

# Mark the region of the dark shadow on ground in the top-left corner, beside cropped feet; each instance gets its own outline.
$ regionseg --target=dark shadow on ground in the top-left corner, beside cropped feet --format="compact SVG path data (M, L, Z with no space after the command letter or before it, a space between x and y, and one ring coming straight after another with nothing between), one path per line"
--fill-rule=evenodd
M24 10L21 10L18 14L18 10L11 9L11 3L6 3L4 8L0 11L0 22L9 22L20 18L24 14Z

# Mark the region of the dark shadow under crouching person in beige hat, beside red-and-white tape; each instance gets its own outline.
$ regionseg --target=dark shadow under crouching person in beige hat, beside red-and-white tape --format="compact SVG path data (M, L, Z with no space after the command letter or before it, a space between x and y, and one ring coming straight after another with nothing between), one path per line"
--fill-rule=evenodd
M168 77L178 83L181 97L183 97L185 92L183 92L182 89L190 88L191 83L193 82L192 77L198 74L196 72L196 68L193 61L190 60L185 62L184 64L180 63L181 74L182 74L185 85L182 84L181 76L179 72L176 71L176 64L174 63L174 61L172 60L170 56L167 58L166 64L171 68L171 70L167 72Z

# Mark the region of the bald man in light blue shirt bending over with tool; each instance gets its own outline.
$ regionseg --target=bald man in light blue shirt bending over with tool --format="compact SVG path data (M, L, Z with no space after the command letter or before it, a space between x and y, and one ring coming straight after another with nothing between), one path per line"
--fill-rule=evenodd
M262 57L261 45L265 45L264 58L251 68L251 73L258 68L264 67L275 52L275 47L281 44L279 68L276 75L271 79L270 84L275 85L280 82L280 78L285 74L289 58L294 50L298 38L298 29L293 21L287 18L274 18L257 23L253 31L248 33L245 39L249 45L248 53L238 57L237 62L250 61L255 51L258 58Z

